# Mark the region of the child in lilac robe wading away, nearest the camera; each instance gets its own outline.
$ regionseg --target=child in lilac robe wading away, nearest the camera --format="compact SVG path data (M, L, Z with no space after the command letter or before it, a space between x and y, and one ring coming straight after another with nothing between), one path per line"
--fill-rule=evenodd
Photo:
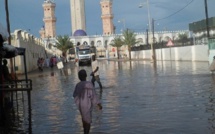
M93 84L90 81L86 81L87 73L84 69L78 72L78 77L80 82L75 86L73 97L82 116L84 134L89 134L93 106L97 105L100 110L102 106L96 95Z

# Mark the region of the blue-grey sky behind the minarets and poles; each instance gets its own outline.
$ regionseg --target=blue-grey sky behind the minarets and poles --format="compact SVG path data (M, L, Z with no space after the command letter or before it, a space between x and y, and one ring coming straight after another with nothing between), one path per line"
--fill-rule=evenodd
M5 0L0 0L0 23L6 28ZM8 0L11 32L22 29L39 38L44 25L44 0ZM56 34L71 36L70 0L54 0ZM207 0L208 16L215 16L215 0ZM143 4L142 8L139 5ZM155 20L155 31L188 30L189 23L206 18L204 0L113 0L113 23L116 33L122 29L145 32L148 15ZM86 32L88 35L102 34L100 0L85 0Z

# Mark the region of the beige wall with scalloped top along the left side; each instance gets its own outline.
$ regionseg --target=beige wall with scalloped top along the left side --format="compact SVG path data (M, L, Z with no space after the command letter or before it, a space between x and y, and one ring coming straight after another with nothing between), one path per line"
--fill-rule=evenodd
M25 55L28 72L37 69L37 59L39 57L46 58L46 56L50 57L53 55L50 51L46 51L42 39L35 38L26 31L15 30L11 36L11 44L13 46L26 48ZM11 68L10 64L8 64L8 68ZM15 71L17 74L24 73L24 60L22 56L15 57Z

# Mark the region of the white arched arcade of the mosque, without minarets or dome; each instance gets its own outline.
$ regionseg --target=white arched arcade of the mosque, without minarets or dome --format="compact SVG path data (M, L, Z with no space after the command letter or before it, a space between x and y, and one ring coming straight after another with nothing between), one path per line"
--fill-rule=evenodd
M146 45L147 44L147 33L135 33L136 40L138 41L135 46ZM187 30L181 31L160 31L154 33L155 42L168 41L170 39L176 40L179 38L180 34L187 34L190 36L190 32ZM78 44L87 44L90 46L95 46L97 50L97 57L114 57L116 55L116 48L112 47L110 44L114 40L115 37L121 36L122 34L110 34L110 35L91 35L91 36L71 36L70 41L73 42L74 45ZM127 54L127 47L123 45L120 48L120 53L122 55Z

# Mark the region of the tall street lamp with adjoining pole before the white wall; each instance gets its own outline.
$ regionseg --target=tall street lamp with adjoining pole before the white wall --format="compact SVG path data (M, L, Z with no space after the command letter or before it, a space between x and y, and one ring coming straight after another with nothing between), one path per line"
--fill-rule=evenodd
M152 62L154 64L156 64L156 52L155 52L155 48L154 48L154 19L151 20L151 15L150 15L150 7L149 7L149 0L146 0L146 5L147 5L147 12L148 12L148 23L149 23L149 35L152 34L152 41L151 43L151 50L152 50ZM142 8L144 5L144 3L141 3L139 5L139 8ZM151 22L152 21L152 22ZM153 28L152 28L153 27ZM150 36L149 36L150 37ZM149 38L150 39L150 38Z

